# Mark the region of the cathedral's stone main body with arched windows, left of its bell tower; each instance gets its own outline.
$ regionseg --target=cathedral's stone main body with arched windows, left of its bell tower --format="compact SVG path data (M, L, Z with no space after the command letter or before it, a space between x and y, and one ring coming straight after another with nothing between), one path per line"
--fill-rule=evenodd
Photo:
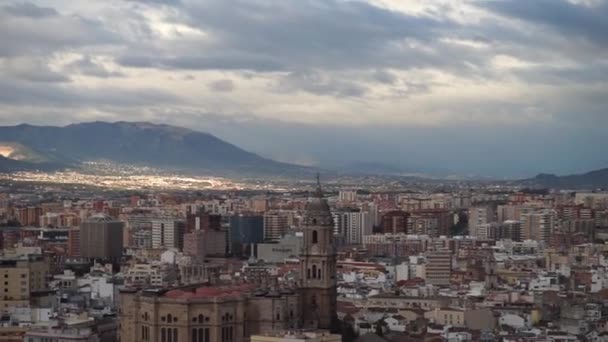
M241 342L294 328L294 291L253 292L250 285L121 292L121 342Z

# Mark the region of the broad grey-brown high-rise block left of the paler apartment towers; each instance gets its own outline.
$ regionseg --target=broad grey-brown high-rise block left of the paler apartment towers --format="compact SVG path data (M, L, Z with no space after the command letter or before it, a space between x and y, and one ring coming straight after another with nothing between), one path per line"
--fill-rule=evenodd
M103 214L85 220L80 225L80 255L84 258L120 258L123 228L123 222Z

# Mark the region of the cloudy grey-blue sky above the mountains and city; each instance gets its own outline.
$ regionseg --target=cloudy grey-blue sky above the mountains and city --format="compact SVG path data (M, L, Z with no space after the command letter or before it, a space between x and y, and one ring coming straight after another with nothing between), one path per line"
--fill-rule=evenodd
M608 0L0 0L0 37L0 125L168 123L303 165L608 167Z

